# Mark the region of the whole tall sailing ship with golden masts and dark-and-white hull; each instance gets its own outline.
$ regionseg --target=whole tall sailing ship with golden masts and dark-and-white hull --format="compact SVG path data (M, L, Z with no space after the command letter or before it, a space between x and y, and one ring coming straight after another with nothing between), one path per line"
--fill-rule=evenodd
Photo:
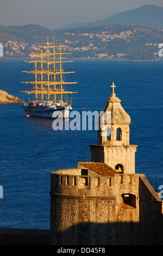
M53 118L53 113L59 111L60 117L67 118L72 109L72 100L68 99L68 95L72 95L66 87L68 84L76 84L76 82L67 82L65 76L73 71L64 71L63 65L72 60L62 60L64 54L61 52L61 45L54 44L50 46L47 40L47 46L39 46L39 53L35 54L34 60L27 60L28 63L34 63L34 70L23 71L27 74L34 74L34 81L22 82L32 84L28 93L34 95L34 99L25 102L22 106L27 117L45 117ZM55 116L56 117L56 116Z

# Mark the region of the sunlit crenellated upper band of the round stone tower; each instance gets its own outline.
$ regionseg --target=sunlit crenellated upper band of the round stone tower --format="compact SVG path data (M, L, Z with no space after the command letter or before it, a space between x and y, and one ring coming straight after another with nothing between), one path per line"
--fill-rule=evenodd
M139 174L115 174L115 176L81 175L82 169L61 169L51 173L51 195L72 197L104 197L122 200L122 194L134 194L139 198ZM141 174L142 175L142 174Z

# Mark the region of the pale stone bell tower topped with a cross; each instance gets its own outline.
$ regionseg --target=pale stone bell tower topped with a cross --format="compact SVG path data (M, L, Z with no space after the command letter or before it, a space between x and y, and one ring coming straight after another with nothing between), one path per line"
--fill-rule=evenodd
M137 145L129 144L130 117L121 106L111 83L111 97L106 100L101 124L97 133L97 144L90 145L91 162L103 162L118 173L135 173L135 152Z

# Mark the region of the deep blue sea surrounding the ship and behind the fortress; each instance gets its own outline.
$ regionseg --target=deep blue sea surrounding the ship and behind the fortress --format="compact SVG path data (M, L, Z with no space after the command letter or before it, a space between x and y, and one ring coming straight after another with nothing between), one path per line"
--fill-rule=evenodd
M111 70L116 96L130 115L130 144L136 144L136 173L143 173L153 188L163 185L162 98L163 62L74 59L73 111L102 111L111 94ZM28 100L19 93L24 59L0 59L0 89ZM28 78L28 81L30 77ZM51 172L76 168L91 161L89 144L97 131L54 131L53 120L27 118L22 104L0 105L1 153L0 227L49 229ZM85 109L81 109L85 107Z

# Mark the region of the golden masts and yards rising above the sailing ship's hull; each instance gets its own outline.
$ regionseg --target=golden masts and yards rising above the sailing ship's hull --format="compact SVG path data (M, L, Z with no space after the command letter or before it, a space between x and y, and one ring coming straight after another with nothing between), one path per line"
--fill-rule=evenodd
M63 54L71 54L71 53L62 53L61 52L61 45L56 46L54 44L54 38L53 38L53 46L50 46L48 43L47 38L47 46L39 46L40 52L37 53L31 53L35 54L34 60L28 60L26 62L28 63L35 63L35 68L33 71L23 71L27 74L35 74L35 81L28 81L28 82L22 82L22 83L29 83L34 84L32 87L32 90L30 91L24 91L21 93L28 93L28 94L35 94L35 100L38 100L38 95L41 94L41 100L43 101L43 95L48 96L48 101L50 100L50 95L54 95L54 103L57 102L57 95L60 95L60 102L61 106L63 104L63 95L64 94L73 94L77 92L67 92L64 89L65 84L76 84L77 82L65 82L63 81L63 74L70 74L74 73L73 71L65 72L62 70L62 63L72 62L72 60L62 60ZM46 52L43 52L42 49L46 50ZM53 48L53 52L50 51L50 49ZM59 52L55 51L55 48L59 49ZM56 56L59 56L59 58L56 60ZM36 56L39 57L40 60L36 59ZM49 57L53 56L53 60L51 60ZM45 59L46 57L46 59ZM39 66L37 64L41 65L41 68L39 69ZM47 69L43 69L43 64L47 64ZM53 65L53 69L50 69L49 66ZM57 69L57 65L59 65L59 68ZM37 80L37 75L41 75L41 81ZM44 76L47 75L47 80L44 79ZM53 80L50 81L50 76L53 76ZM57 77L58 81L57 81Z

